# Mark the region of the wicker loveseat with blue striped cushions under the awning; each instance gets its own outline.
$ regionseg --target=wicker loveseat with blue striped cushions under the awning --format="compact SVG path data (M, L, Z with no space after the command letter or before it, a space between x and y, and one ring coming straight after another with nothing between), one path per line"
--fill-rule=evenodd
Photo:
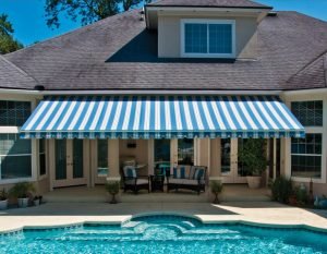
M179 165L173 168L173 176L167 176L167 192L179 189L195 191L197 194L205 192L206 171L205 166L187 168L187 166Z

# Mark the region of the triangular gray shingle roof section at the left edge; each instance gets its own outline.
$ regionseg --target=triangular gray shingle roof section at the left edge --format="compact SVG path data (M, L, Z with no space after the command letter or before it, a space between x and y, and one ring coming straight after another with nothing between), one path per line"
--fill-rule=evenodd
M33 89L35 85L33 77L0 56L0 87Z

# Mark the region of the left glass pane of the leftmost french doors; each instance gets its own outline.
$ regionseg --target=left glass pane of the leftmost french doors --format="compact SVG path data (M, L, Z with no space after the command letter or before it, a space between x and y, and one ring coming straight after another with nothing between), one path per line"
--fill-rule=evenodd
M56 180L66 179L66 141L56 140Z

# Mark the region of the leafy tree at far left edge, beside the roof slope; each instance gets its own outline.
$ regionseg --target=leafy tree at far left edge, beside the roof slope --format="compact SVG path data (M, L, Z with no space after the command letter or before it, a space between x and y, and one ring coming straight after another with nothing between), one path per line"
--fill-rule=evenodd
M0 15L0 53L9 53L23 48L23 45L13 38L14 29L8 21L8 15Z

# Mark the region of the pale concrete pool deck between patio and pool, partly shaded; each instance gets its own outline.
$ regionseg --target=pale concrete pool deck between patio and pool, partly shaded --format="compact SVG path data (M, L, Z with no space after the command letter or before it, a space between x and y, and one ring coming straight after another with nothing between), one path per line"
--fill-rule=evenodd
M203 222L244 221L319 228L327 232L327 210L290 207L275 202L209 203L47 203L37 207L0 210L0 232L23 228L72 226L83 222L121 223L132 216L175 213Z

